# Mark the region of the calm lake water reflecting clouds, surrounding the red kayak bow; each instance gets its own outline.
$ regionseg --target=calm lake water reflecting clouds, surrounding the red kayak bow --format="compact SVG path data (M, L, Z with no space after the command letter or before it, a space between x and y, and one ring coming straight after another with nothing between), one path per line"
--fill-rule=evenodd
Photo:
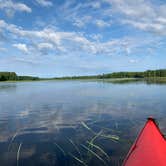
M166 85L0 83L0 165L118 166L148 116L166 133Z

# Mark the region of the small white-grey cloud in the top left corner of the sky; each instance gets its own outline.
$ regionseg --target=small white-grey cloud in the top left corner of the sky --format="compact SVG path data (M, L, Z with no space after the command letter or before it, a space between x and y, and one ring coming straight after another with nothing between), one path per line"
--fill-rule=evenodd
M15 12L32 12L32 9L26 4L13 2L12 0L0 0L0 10L4 10L9 17L12 17Z

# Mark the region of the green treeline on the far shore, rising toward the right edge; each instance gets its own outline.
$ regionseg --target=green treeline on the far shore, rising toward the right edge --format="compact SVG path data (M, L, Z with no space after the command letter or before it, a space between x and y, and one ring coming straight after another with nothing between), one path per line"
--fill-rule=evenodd
M166 77L166 69L147 70L144 72L114 72L102 75L92 76L72 76L55 79L107 79L107 78L149 78L149 77Z

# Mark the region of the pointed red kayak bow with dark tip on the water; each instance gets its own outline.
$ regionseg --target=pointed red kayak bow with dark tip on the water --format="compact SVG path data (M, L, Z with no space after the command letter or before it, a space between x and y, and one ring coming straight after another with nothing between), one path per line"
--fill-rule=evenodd
M166 166L166 140L153 118L148 118L123 166Z

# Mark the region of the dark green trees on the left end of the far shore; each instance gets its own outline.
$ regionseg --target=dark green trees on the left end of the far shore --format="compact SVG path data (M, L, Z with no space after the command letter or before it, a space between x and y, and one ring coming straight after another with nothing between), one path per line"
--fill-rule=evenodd
M0 72L0 81L39 80L38 77L18 76L15 72Z

